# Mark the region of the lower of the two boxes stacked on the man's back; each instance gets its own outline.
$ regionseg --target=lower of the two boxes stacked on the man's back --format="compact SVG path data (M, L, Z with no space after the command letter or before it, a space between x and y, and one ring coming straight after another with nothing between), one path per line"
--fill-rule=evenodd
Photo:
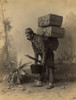
M61 27L45 27L45 28L38 28L37 34L45 37L56 37L56 38L63 38L65 30Z

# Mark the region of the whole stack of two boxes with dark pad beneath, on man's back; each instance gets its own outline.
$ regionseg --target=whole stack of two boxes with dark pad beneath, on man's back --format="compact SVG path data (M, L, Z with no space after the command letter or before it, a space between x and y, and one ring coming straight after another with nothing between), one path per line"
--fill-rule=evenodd
M49 39L52 50L58 48L58 38L64 37L65 30L61 27L62 21L63 17L55 14L48 14L38 18L37 34Z

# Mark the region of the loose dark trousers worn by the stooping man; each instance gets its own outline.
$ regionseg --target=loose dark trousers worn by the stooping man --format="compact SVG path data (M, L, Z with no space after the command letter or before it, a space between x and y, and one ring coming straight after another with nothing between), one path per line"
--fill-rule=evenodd
M46 74L47 73L47 74ZM54 53L48 54L46 57L46 64L42 67L42 72L40 73L40 81L44 81L45 77L48 77L48 82L55 82L55 71L54 71Z

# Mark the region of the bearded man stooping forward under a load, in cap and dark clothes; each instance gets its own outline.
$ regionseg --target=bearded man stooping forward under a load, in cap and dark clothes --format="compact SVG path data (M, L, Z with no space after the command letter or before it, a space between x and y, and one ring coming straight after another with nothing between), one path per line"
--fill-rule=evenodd
M41 65L42 72L40 74L39 81L36 83L36 86L42 86L42 82L45 78L46 69L48 71L48 87L51 89L54 85L55 74L54 74L54 53L49 48L49 39L44 39L41 36L36 35L31 28L25 29L26 37L32 43L34 50L35 58L38 59L38 56L41 56ZM35 61L37 64L37 61Z

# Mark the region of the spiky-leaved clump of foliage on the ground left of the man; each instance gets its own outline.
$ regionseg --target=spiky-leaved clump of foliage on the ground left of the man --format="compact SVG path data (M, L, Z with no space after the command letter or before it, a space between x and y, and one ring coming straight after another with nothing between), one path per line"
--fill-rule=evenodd
M22 61L18 64L18 66L9 74L6 74L4 77L4 81L10 84L21 84L21 80L27 79L27 72L23 69L29 63L25 63L22 65Z

